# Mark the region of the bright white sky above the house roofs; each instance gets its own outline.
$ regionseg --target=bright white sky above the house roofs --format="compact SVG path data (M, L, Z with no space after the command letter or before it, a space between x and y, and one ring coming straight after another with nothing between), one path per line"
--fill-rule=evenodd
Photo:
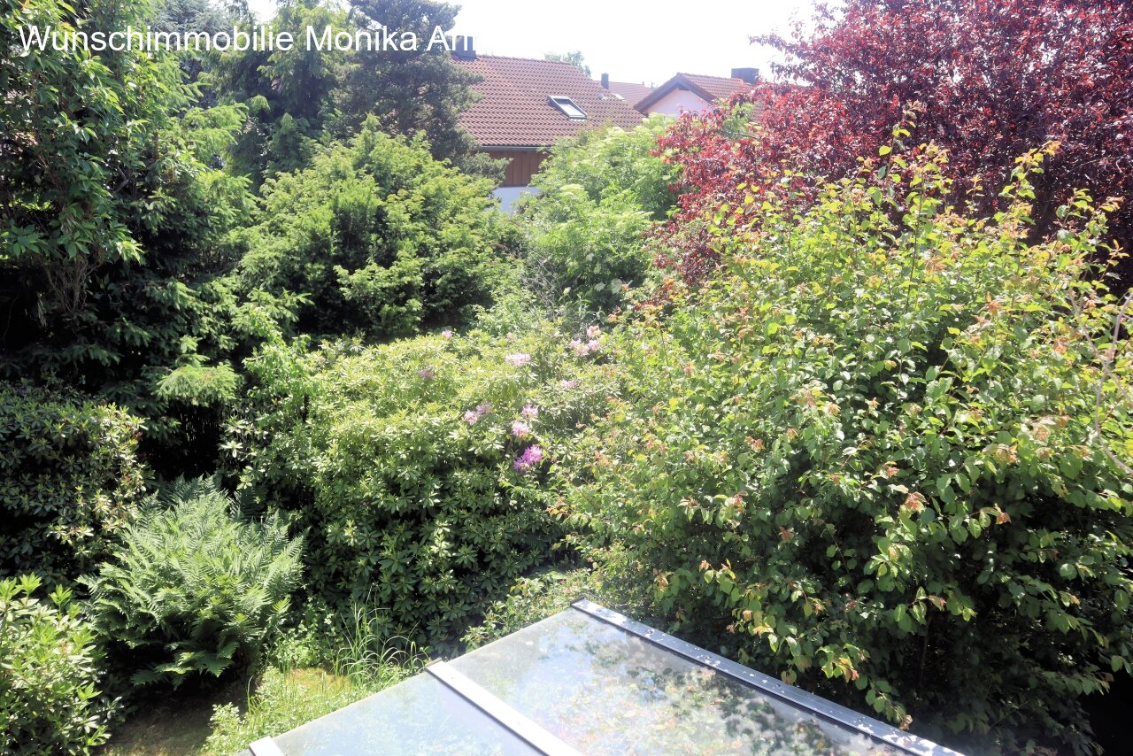
M273 0L250 0L261 19ZM812 0L463 0L457 34L483 54L543 58L582 53L590 74L614 82L661 84L678 71L729 76L759 68L770 77L773 51L753 34L790 32L792 16L810 16Z

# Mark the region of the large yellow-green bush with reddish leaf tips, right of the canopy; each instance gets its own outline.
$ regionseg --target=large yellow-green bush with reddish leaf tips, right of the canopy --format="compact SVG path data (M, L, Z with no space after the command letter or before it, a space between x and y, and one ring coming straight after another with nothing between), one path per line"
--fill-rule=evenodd
M965 749L1083 751L1080 696L1133 662L1104 226L1076 196L1082 232L1029 246L1023 178L970 220L940 153L910 161L760 232L709 215L724 269L616 340L632 390L561 465L563 512L746 663Z

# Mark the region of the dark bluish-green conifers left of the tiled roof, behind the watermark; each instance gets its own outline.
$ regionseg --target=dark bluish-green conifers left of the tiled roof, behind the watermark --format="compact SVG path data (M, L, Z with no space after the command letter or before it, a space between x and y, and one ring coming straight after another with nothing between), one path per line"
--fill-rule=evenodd
M460 112L472 102L476 76L452 62L435 29L449 31L457 7L427 0L367 0L343 10L321 0L280 6L272 26L306 37L307 27L331 26L375 35L370 50L307 49L231 51L216 56L205 79L225 102L245 103L249 119L232 151L232 169L258 186L286 170L305 168L320 141L348 138L369 118L389 134L423 135L433 155L470 172L496 177L501 164L474 153L460 128ZM382 27L397 49L385 46ZM401 49L402 34L416 49ZM404 37L409 39L409 37ZM431 44L432 42L432 44ZM452 44L452 37L446 44Z

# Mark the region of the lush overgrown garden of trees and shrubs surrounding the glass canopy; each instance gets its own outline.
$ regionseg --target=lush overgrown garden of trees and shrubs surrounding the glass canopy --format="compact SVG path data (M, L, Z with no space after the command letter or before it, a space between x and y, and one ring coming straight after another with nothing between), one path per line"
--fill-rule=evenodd
M235 754L581 596L966 754L1113 742L1133 7L820 8L508 215L446 54L0 3L0 751Z

